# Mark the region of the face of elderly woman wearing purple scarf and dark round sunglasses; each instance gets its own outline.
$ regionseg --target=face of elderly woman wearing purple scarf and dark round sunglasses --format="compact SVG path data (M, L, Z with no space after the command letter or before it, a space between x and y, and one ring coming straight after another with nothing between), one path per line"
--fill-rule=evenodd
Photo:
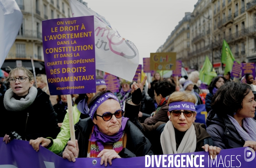
M106 112L115 113L116 110L119 109L121 109L119 102L110 98L98 107L97 114L102 116ZM122 117L117 119L116 116L113 115L111 120L106 122L102 117L97 116L97 119L93 118L93 123L98 125L100 132L112 136L120 130Z

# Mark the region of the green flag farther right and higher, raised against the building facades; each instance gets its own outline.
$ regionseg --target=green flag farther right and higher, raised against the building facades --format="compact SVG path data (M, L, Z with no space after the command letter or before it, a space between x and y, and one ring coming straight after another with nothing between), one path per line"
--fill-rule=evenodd
M230 47L228 46L227 41L223 39L221 63L226 64L224 75L226 75L227 72L231 72L234 61L235 58L230 50Z

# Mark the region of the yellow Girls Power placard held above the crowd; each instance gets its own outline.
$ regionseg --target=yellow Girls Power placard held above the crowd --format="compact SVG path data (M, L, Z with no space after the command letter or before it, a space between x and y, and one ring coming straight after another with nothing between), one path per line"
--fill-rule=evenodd
M150 53L150 70L175 70L176 52Z

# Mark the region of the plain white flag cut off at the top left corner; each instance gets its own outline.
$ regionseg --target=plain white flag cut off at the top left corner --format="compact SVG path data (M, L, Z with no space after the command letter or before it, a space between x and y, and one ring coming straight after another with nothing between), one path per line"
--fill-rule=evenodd
M22 18L15 0L0 0L0 67L16 39Z

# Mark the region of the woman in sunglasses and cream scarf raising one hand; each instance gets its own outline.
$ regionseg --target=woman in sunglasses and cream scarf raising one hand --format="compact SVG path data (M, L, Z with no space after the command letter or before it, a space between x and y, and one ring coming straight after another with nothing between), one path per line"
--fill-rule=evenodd
M136 85L133 85L132 90L137 91ZM134 93L132 96L135 96ZM136 110L135 105L129 101L126 101L125 110L133 108L134 111L138 111L139 107ZM195 96L189 92L172 93L168 99L169 121L167 123L158 122L156 125L140 123L138 125L136 121L133 121L134 114L125 111L125 116L129 116L150 140L155 155L207 151L212 158L215 158L221 148L212 146L211 136L206 132L204 124L195 123L195 101Z

